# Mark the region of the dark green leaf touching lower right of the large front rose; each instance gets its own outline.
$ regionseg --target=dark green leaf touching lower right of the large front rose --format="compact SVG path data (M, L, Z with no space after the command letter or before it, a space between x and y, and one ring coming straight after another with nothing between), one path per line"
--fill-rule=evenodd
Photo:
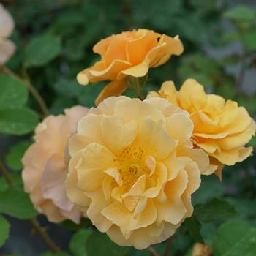
M194 214L201 222L214 222L217 219L228 219L237 216L235 208L230 203L218 198L195 206Z

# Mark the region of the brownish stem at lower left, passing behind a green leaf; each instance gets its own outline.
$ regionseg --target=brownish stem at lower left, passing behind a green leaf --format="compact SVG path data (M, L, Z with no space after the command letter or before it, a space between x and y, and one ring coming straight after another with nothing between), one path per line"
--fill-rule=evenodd
M2 173L3 177L9 184L9 186L13 185L12 177L8 173L6 167L4 166L4 163L0 160L0 172ZM29 219L29 222L34 227L34 229L39 233L39 235L42 237L42 239L45 241L45 244L48 245L49 249L52 252L59 252L59 247L54 244L53 240L48 236L48 233L39 225L39 222L36 218Z

